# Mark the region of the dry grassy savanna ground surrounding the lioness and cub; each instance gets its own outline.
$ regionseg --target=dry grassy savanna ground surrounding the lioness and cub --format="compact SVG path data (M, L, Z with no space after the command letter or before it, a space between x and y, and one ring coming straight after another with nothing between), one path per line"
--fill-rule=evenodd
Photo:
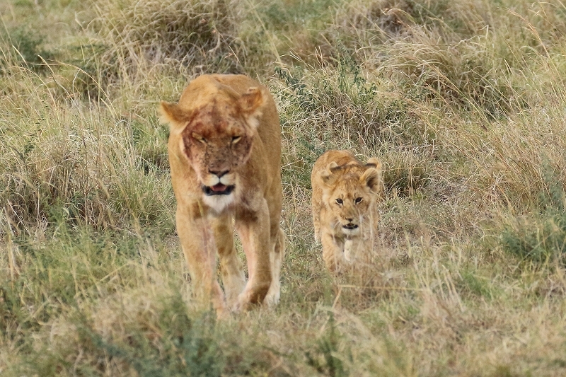
M559 0L4 0L2 376L565 376L566 5ZM159 100L270 88L282 302L190 297ZM326 149L384 165L381 248L313 241Z

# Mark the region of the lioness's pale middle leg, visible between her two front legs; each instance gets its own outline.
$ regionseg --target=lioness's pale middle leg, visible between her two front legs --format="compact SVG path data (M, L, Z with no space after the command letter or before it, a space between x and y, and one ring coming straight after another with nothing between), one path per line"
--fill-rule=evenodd
M238 295L246 285L246 276L234 247L232 216L223 214L213 219L211 223L218 248L226 304L231 308L236 304Z

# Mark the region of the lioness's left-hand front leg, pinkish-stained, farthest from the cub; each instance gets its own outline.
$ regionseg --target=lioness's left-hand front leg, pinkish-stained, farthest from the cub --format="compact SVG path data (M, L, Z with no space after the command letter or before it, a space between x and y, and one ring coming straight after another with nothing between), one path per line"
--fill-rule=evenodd
M216 242L209 222L200 217L192 219L186 211L177 210L177 233L189 265L193 294L208 303L219 315L226 310L224 294L216 280Z

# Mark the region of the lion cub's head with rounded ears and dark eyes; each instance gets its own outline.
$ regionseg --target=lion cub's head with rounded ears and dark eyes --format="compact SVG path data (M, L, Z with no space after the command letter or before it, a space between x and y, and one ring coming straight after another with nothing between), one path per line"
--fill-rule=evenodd
M371 224L371 206L381 191L381 162L370 158L365 165L338 166L332 162L320 173L323 203L330 208L330 224L345 236L357 236L364 224Z

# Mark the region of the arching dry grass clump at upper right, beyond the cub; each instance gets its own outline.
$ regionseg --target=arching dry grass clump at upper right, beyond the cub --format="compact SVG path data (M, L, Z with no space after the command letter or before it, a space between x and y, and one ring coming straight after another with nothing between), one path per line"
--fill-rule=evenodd
M391 55L383 60L391 58L393 62L376 64L391 67L403 85L415 86L418 98L440 106L454 103L492 117L509 113L512 106L521 107L521 98L513 96L520 90L509 79L512 72L503 59L485 48L487 41L478 37L464 44L445 45L438 43L434 33L420 31L418 41L396 42L390 47Z

